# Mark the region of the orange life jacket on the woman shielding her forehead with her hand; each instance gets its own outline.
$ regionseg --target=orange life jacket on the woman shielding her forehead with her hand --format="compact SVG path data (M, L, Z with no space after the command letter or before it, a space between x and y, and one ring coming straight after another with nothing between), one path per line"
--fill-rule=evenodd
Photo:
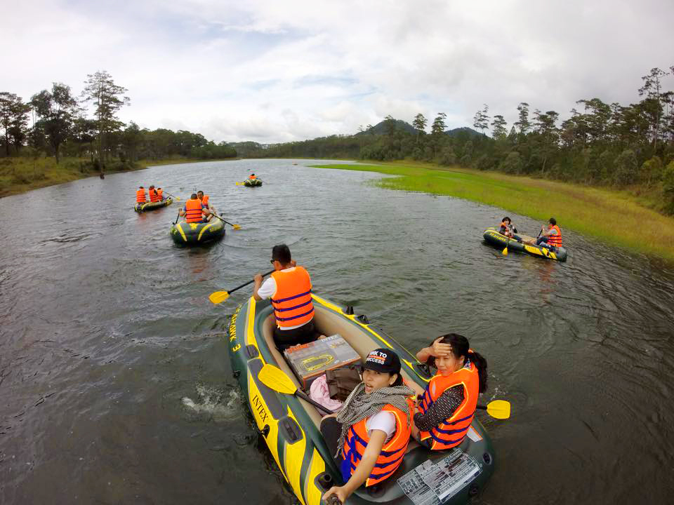
M480 393L480 379L477 376L477 367L470 361L463 368L456 370L451 375L436 375L426 386L423 398L419 404L419 411L423 414L430 408L437 398L447 389L463 385L463 402L454 410L449 419L445 419L440 425L431 431L420 431L421 440L432 438L430 448L432 450L444 450L459 445L465 433L468 432L470 423L473 422L477 395Z

